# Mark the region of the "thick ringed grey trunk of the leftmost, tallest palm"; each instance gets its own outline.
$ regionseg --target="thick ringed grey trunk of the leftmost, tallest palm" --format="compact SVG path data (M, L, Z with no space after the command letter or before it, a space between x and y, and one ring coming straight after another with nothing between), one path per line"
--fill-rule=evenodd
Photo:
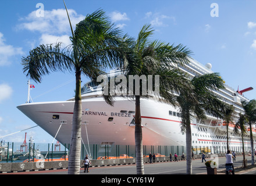
M80 173L81 160L81 119L82 119L82 102L81 102L81 71L76 71L76 95L74 101L72 136L70 142L69 167L68 174Z

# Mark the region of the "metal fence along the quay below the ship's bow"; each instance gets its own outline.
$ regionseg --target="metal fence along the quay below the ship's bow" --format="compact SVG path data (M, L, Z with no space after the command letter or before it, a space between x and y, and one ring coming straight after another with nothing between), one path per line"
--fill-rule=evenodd
M0 162L34 162L36 159L52 161L68 160L70 144L40 144L29 143L21 146L17 142L6 142L0 147ZM150 153L156 157L186 154L184 146L143 145L143 157ZM99 145L82 144L81 160L88 155L91 159L136 158L135 145Z

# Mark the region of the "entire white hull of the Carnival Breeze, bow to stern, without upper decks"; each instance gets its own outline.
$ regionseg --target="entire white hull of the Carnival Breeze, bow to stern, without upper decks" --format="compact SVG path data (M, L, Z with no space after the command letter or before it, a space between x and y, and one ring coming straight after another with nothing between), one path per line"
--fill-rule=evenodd
M134 113L129 113L134 111L134 101L119 99L114 107L109 106L102 98L83 99L82 103L81 134L84 144L134 145L134 125L131 123ZM18 106L18 109L52 137L59 130L56 140L67 145L72 131L73 105L74 101L26 103ZM127 113L121 113L121 110L127 110ZM186 146L186 135L180 130L180 117L170 116L169 110L177 112L165 103L141 100L143 145ZM58 115L59 119L52 119L54 115ZM108 121L109 117L113 117L113 120ZM211 117L204 121L194 119L191 123L192 146L197 149L225 151L226 133L215 124L218 122L222 121ZM236 135L231 130L229 132L230 146L240 151L242 142L239 134ZM250 141L247 140L244 144L246 148L250 148Z

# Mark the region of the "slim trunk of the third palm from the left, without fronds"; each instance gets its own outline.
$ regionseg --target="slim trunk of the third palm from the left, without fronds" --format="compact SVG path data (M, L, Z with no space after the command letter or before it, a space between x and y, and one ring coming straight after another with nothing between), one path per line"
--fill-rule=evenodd
M186 128L187 174L192 174L191 140L192 140L191 126L190 126L190 120L189 120L189 123L187 123L187 128Z

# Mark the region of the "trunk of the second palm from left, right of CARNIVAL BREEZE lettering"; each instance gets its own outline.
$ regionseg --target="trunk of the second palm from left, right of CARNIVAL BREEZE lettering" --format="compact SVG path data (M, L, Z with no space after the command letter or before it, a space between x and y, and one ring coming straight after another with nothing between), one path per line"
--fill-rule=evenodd
M137 174L144 174L140 96L135 96L135 149Z

